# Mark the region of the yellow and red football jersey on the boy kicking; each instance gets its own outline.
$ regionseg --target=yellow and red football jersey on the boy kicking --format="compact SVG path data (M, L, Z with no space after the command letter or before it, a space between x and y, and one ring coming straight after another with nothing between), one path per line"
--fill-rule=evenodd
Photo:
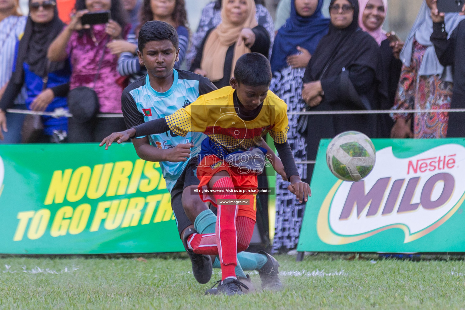
M261 138L268 132L276 143L286 143L289 127L287 106L282 99L268 91L258 116L243 120L234 107L233 94L231 86L209 92L167 116L166 123L180 136L187 132L205 133L214 144L211 147L223 154L261 146Z

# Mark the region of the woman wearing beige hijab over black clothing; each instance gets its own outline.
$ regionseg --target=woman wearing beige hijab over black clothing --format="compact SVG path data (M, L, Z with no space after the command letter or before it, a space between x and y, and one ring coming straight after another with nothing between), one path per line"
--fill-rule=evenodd
M197 51L191 71L218 87L229 86L237 59L258 52L268 57L270 37L255 20L253 0L223 0L222 22L210 29Z

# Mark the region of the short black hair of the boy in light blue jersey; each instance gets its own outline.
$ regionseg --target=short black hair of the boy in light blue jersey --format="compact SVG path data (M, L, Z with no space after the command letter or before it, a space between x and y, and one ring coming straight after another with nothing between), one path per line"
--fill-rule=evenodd
M139 47L140 53L142 53L147 42L161 40L170 40L175 49L179 47L178 33L173 26L165 21L147 21L139 30L137 46Z

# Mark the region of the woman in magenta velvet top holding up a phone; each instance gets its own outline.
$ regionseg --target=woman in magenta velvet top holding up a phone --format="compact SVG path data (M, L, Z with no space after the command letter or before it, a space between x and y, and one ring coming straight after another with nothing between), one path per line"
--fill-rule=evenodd
M100 113L121 113L121 76L116 67L118 56L106 47L112 40L126 39L131 29L127 12L120 0L77 0L76 14L70 24L53 41L48 50L48 59L60 61L69 56L73 66L70 90L80 86L93 89L98 98L92 106L79 102L86 110L97 109ZM82 25L86 13L110 11L111 19L106 24ZM79 101L72 98L70 102ZM97 106L97 107L96 107ZM122 117L69 119L69 142L97 142L112 132L126 129Z

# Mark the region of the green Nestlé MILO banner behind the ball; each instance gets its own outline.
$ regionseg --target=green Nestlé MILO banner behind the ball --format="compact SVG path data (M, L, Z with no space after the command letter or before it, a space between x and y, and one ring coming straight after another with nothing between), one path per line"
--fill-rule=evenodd
M298 251L465 252L465 140L373 143L371 174L345 182L321 141Z

